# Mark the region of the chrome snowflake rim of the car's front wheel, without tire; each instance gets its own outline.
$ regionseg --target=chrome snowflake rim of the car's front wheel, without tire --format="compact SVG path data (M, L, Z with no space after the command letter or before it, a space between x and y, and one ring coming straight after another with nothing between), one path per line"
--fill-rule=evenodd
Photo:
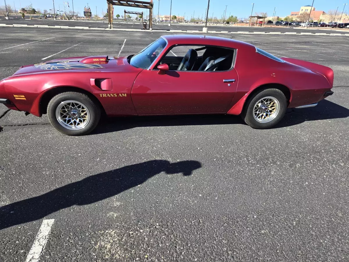
M56 109L56 118L60 125L69 130L80 130L90 121L90 112L87 107L77 101L61 102Z

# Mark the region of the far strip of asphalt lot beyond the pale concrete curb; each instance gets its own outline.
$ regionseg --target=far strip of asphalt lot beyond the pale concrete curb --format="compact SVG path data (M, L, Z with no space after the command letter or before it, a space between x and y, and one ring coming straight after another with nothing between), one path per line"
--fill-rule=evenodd
M108 22L106 20L102 21L73 21L73 20L51 20L51 19L0 19L0 24L27 24L28 26L34 26L34 25L41 25L41 26L69 26L69 27L89 27L89 28L108 28ZM147 22L148 24L148 22ZM171 26L169 26L168 23L153 23L153 30L198 30L202 31L203 24L180 24L180 23L172 23ZM114 20L113 22L113 28L115 29L142 29L143 26L140 22L120 22L117 20ZM148 28L148 26L147 26ZM302 32L311 32L313 34L316 33L335 33L335 34L348 34L348 31L343 30L336 30L336 29L317 29L317 28L309 28L308 30L305 30L302 27L296 26L296 27L286 27L286 26L279 26L279 27L241 27L241 26L219 26L214 25L210 26L208 25L209 31L227 31L227 32L238 32L238 31L244 31L244 32L288 32L288 33L302 33Z

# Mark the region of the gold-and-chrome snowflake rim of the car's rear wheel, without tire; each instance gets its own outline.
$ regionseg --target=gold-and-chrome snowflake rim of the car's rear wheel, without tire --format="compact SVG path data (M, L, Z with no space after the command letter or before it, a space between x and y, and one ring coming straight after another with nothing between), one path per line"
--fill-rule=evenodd
M258 122L267 123L272 121L280 111L280 103L273 96L260 99L253 107L253 116Z

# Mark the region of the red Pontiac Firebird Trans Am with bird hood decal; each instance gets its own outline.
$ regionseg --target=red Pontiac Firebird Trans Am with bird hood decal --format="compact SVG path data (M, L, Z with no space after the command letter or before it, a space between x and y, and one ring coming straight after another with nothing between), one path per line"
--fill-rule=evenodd
M332 95L333 70L277 58L227 38L169 35L135 55L72 57L22 66L0 81L0 103L48 114L67 135L83 135L108 116L231 114L252 128L277 124L286 108Z

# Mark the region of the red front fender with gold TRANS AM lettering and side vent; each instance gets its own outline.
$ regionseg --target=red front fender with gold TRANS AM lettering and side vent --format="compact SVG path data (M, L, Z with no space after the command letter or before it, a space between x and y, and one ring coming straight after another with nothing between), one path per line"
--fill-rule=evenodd
M26 100L15 101L21 111L41 116L40 104L44 95L53 88L70 87L92 94L102 105L107 115L136 115L131 99L131 89L138 72L50 72L22 75L7 81L13 94L25 95ZM111 79L111 90L91 84L90 79ZM67 89L65 89L65 92ZM46 101L45 101L46 102Z

